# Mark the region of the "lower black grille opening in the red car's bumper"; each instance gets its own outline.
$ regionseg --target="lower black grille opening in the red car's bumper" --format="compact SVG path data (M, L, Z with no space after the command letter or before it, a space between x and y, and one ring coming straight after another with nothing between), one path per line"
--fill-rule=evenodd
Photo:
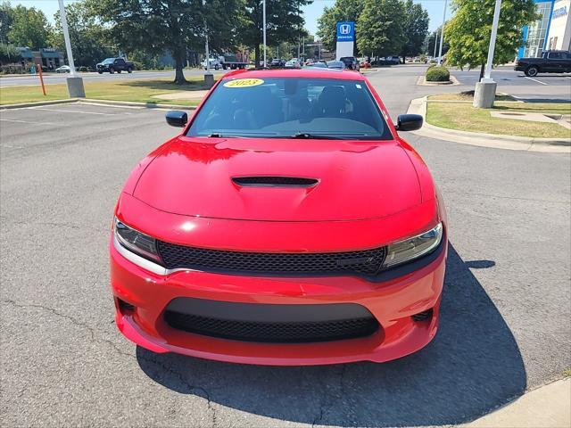
M167 310L165 321L173 328L243 342L327 342L366 337L375 333L374 317L311 322L256 322L201 317Z

